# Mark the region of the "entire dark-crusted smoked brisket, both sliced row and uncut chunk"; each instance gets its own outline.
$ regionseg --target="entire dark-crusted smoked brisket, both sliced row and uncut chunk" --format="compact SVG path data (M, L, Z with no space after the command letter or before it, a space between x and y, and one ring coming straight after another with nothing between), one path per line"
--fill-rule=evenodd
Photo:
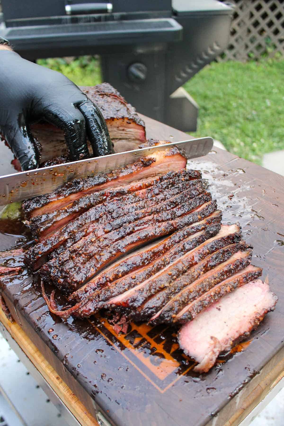
M84 90L101 104L116 151L167 144L145 141L135 109L108 84ZM57 132L52 143L45 142L46 164L57 154L50 155L55 142L57 150L64 146L56 161L66 160ZM181 348L198 362L195 371L208 371L221 351L274 309L277 297L258 279L261 268L250 264L252 247L242 239L240 225L221 225L217 201L199 171L185 170L186 161L177 147L162 147L111 173L73 179L24 201L36 244L0 253L0 282L5 285L20 272L26 279L28 269L41 267L43 297L63 320L103 308L115 312L117 333L127 332L129 319L183 324ZM60 311L55 290L48 297L45 282L74 305ZM0 305L6 309L1 293Z

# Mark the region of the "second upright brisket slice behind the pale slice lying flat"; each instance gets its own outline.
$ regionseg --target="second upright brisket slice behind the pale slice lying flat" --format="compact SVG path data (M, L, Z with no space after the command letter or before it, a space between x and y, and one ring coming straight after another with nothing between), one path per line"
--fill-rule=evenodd
M203 276L195 280L194 282L189 281L187 283L186 274L178 278L178 285L181 291L172 297L166 305L164 305L160 311L158 311L149 320L152 324L158 324L161 322L175 322L177 314L192 300L201 296L214 285L223 281L224 279L231 276L233 273L246 268L251 261L252 250L244 249L233 254L228 260L204 273Z

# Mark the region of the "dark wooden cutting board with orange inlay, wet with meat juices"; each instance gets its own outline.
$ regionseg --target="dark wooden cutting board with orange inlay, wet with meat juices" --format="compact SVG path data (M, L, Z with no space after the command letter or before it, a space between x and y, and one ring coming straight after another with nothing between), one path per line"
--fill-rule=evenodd
M143 118L148 138L188 138ZM190 167L208 178L223 223L241 223L254 246L252 263L264 269L263 279L279 299L247 344L220 357L209 373L192 371L195 364L178 348L175 328L133 322L126 335L117 336L100 316L67 323L52 316L27 277L3 289L14 320L86 409L92 415L99 409L116 425L238 424L246 414L244 397L256 392L259 398L264 378L274 380L283 369L284 178L218 149ZM0 243L8 247L12 241L6 235Z

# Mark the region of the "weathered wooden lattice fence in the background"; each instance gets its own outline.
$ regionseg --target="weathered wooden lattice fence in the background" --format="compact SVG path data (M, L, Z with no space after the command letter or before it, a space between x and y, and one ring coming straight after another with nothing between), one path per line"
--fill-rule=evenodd
M224 3L229 3L224 1ZM284 55L284 0L231 0L235 4L228 49L218 61Z

